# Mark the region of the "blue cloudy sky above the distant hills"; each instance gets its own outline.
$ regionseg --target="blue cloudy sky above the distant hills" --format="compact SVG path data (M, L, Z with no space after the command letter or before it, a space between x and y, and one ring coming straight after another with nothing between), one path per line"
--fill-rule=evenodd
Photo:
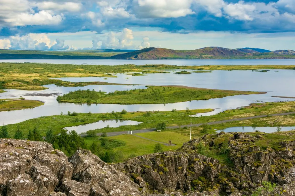
M295 0L0 0L0 49L295 50Z

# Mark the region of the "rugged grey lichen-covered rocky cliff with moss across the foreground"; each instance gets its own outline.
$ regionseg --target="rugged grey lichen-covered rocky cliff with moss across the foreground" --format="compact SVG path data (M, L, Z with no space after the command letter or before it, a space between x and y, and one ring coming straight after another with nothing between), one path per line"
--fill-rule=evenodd
M267 195L295 195L295 141L275 150L255 145L261 139L263 133L205 135L177 151L111 165L89 150L68 158L45 142L0 139L0 195L241 196L263 181L278 184ZM199 154L200 147L226 152L229 164Z

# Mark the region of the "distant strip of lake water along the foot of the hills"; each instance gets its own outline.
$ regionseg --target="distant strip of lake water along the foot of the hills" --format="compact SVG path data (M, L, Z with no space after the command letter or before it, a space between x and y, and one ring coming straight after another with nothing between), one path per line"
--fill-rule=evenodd
M55 59L20 59L20 60L1 60L0 62L9 63L53 63L53 64L77 64L77 65L295 65L295 59L214 59L214 60L55 60Z

